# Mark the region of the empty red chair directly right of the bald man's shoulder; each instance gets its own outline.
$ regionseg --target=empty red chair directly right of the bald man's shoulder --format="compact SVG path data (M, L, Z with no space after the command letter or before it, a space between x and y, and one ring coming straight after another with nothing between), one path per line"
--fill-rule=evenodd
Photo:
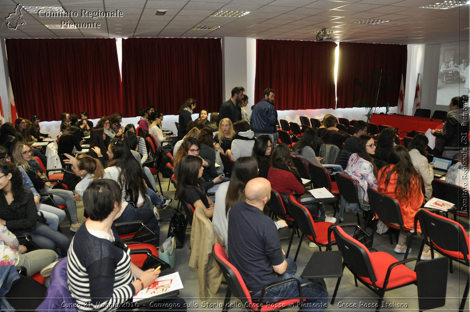
M297 252L294 257L294 261L297 260L298 252L304 239L304 235L315 244L318 245L318 249L321 251L321 246L328 246L328 227L333 225L331 222L315 222L313 221L312 214L308 211L304 205L297 202L297 199L293 196L289 196L289 207L292 213L292 217L295 220L295 226L298 226L299 230L302 232L300 236L300 242L298 243ZM294 226L294 229L295 229ZM292 232L293 233L293 232ZM293 234L290 236L292 241ZM331 243L334 244L334 236L330 237ZM328 249L328 248L327 248Z

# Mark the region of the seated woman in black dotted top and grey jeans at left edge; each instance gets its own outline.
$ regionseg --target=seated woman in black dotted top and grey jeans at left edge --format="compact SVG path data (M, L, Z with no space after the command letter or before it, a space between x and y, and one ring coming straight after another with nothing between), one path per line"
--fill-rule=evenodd
M30 189L23 186L18 168L12 163L0 160L0 224L7 226L13 234L30 234L32 240L42 249L57 250L67 254L70 239L38 222L38 213Z

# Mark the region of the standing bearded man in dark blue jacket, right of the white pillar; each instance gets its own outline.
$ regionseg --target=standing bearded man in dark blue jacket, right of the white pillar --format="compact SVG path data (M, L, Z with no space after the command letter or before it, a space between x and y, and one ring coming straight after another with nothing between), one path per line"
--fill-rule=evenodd
M273 127L276 124L276 115L274 110L274 90L266 88L263 92L263 100L257 103L251 113L251 130L255 137L267 134L273 142Z

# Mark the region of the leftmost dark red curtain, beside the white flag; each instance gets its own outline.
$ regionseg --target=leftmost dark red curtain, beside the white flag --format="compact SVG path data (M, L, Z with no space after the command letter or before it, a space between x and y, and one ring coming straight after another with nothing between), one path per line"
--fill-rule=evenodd
M18 116L59 120L85 110L99 118L121 111L121 78L115 39L6 39Z

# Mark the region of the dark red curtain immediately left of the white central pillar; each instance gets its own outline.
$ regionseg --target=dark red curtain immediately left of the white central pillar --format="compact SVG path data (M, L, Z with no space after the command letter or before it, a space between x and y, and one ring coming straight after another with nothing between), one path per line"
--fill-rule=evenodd
M196 112L219 111L223 102L221 39L123 39L122 73L123 100L134 114L153 105L177 115L188 98Z

